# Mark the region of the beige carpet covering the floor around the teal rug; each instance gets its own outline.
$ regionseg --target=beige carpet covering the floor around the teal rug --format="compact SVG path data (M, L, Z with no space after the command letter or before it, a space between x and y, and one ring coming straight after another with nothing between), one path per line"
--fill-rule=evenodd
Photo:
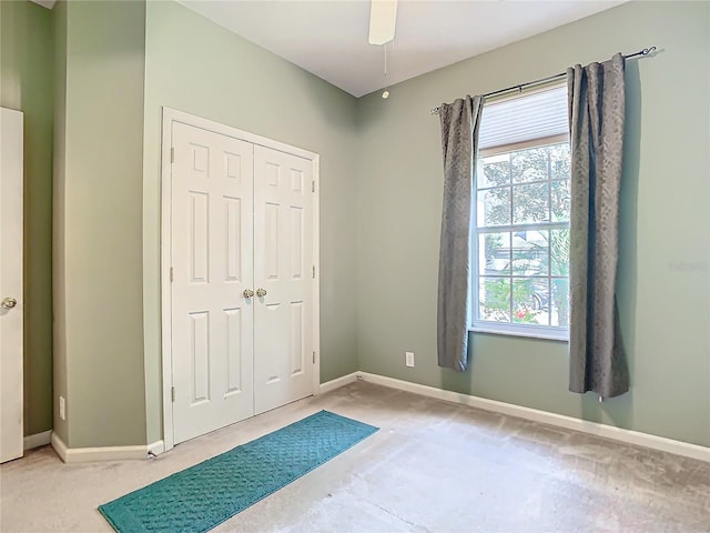
M215 532L708 532L710 464L368 383L306 399L158 460L0 470L0 530L112 531L101 503L321 409L382 431Z

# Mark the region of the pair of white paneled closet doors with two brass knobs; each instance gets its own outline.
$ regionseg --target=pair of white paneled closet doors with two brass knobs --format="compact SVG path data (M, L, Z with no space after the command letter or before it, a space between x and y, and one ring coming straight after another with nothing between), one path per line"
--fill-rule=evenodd
M312 393L313 170L180 122L172 137L179 443Z

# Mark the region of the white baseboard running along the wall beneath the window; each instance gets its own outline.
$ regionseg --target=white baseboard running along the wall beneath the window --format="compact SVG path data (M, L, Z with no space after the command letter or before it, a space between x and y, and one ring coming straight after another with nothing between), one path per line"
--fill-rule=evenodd
M537 409L524 408L511 403L498 402L496 400L488 400L485 398L471 396L469 394L445 391L443 389L437 389L434 386L419 385L418 383L396 380L394 378L386 378L378 374L371 374L368 372L356 372L355 374L355 379L362 379L363 381L375 383L377 385L399 389L402 391L413 392L415 394L422 394L424 396L435 398L437 400L460 403L463 405L470 405L473 408L483 409L485 411L494 411L496 413L527 419L534 422L556 425L559 428L566 428L568 430L580 431L582 433L602 436L605 439L625 442L627 444L636 444L638 446L650 447L652 450L660 450L662 452L674 453L676 455L682 455L686 457L710 462L710 447L700 446L698 444L690 444L688 442L676 441L673 439L667 439L665 436L651 435L649 433L641 433L639 431L625 430L622 428L615 428L612 425L600 424L598 422L589 422L586 420L575 419L574 416L566 416L564 414L556 414ZM324 385L334 383L337 380L333 380L332 382L324 383Z

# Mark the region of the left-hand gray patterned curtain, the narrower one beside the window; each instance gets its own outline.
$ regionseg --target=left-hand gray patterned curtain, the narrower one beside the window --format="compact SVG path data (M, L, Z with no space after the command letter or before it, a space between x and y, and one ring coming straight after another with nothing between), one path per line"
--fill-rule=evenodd
M444 213L439 251L439 366L466 370L470 269L470 202L478 152L481 97L439 107L444 151Z

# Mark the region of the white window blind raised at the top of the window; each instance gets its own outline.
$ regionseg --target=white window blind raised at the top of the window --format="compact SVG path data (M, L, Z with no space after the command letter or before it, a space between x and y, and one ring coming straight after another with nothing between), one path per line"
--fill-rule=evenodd
M569 133L567 86L484 105L478 148Z

